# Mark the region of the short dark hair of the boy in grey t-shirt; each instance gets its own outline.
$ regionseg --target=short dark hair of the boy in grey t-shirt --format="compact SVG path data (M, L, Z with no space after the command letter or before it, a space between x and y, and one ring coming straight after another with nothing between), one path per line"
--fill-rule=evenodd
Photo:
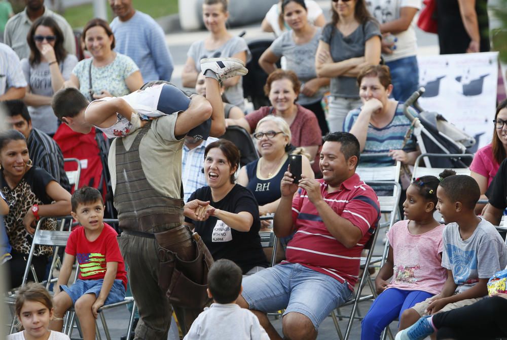
M440 186L452 202L461 202L463 207L474 210L481 197L481 189L476 180L467 175L455 175L452 170L445 169L440 173Z

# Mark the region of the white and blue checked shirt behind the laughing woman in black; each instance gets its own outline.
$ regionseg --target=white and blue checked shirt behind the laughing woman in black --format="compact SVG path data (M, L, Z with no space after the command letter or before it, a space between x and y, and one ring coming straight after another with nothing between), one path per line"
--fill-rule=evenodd
M209 144L218 141L218 138L208 137L204 142L190 150L183 145L182 168L183 168L183 199L185 202L190 195L199 188L206 187L208 183L202 172L204 165L204 150Z

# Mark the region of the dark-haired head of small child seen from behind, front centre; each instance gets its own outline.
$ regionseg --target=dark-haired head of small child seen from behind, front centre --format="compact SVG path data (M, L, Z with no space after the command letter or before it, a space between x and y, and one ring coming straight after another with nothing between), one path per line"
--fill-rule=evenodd
M208 289L213 300L219 304L230 304L241 292L243 279L241 268L234 262L221 259L213 263L208 273Z

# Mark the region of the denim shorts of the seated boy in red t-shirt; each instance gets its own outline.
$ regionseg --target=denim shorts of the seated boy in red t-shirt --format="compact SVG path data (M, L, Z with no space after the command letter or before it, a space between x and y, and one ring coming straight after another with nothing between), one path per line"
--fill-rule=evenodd
M100 280L77 280L71 286L60 285L60 289L66 292L72 303L75 305L76 301L84 294L95 294L96 297L100 294L102 288L103 279ZM105 299L104 305L111 305L125 299L125 286L122 280L115 280L107 299Z

